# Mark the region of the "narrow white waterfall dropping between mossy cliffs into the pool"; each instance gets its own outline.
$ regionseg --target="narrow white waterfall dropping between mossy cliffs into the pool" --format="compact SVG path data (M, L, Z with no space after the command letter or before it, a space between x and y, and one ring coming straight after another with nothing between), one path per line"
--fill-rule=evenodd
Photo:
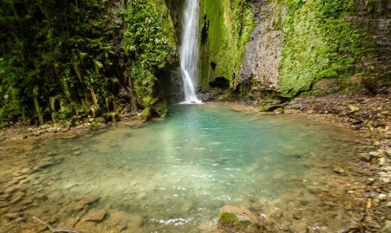
M198 51L198 0L186 0L182 45L180 47L181 72L185 101L182 104L199 104L196 96Z

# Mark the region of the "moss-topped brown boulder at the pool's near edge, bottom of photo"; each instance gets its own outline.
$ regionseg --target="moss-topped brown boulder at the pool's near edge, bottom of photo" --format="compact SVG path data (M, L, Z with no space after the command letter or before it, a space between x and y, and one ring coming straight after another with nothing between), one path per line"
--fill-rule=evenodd
M263 232L259 217L244 208L225 205L221 208L217 226L226 232Z

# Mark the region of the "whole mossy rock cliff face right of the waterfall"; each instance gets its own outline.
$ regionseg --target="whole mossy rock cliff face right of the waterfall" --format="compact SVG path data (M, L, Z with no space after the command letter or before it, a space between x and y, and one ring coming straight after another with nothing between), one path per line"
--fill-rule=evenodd
M199 79L219 98L291 98L322 79L337 80L342 89L357 73L391 79L390 1L258 0L237 8L238 18L230 17L229 8L238 1L206 2L201 1ZM242 28L240 36L232 36L235 28ZM244 44L231 46L238 43ZM215 91L219 77L228 81L230 93Z

